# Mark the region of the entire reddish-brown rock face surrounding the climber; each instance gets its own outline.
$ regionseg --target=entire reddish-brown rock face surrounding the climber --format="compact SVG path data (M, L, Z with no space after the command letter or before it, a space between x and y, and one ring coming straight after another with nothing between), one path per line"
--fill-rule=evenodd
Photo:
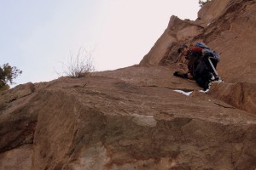
M200 20L172 16L140 65L1 92L0 169L254 170L253 14L255 1L212 0ZM198 40L222 53L208 93L172 76L177 46Z

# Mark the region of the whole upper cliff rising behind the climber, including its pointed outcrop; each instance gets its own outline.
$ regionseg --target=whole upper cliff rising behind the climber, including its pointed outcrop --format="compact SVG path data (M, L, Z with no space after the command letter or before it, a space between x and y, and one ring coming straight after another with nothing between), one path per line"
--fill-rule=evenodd
M213 0L201 8L199 15L201 20L195 22L172 16L140 65L170 65L177 58L180 44L205 42L220 54L218 73L225 82L255 83L255 1Z

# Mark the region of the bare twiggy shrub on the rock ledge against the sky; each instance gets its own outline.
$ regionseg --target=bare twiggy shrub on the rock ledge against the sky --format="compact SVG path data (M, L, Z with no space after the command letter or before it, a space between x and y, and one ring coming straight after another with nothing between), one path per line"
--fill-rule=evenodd
M73 78L85 77L90 72L95 71L92 61L92 51L79 48L78 54L71 54L67 64L62 65L62 70L65 76Z

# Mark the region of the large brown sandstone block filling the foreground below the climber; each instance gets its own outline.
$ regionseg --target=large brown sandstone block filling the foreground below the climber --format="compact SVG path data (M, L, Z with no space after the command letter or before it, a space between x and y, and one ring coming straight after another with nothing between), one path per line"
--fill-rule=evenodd
M126 82L95 75L69 82L77 88L56 88L65 80L38 94L45 106L38 113L32 169L256 166L249 151L255 116L169 88L130 84L120 72Z

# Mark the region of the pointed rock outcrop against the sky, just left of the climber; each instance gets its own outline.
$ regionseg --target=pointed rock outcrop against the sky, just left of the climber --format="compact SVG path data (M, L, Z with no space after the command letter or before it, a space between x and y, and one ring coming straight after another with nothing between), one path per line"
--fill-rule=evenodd
M155 42L154 47L144 56L140 65L160 65L165 62L173 63L177 58L178 42L190 41L201 34L201 26L180 20L172 16L166 31Z

